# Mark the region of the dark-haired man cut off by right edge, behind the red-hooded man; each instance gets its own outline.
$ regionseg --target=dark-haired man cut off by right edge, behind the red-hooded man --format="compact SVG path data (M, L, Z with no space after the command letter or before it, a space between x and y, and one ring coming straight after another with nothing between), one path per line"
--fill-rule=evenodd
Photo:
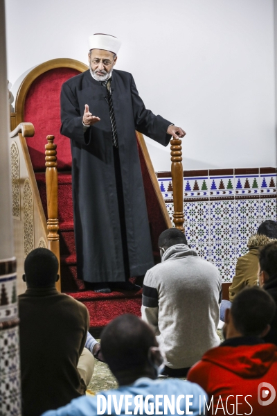
M265 245L259 254L259 283L277 306L277 241ZM277 345L277 309L271 322L270 331L264 337L266 343Z

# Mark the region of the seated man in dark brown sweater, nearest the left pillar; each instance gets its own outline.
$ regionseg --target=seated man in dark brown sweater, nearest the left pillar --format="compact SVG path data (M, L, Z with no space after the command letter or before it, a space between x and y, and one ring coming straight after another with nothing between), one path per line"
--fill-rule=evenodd
M84 349L89 313L57 292L58 266L46 248L30 252L24 263L27 290L18 298L24 416L39 416L84 395L93 373L94 358Z

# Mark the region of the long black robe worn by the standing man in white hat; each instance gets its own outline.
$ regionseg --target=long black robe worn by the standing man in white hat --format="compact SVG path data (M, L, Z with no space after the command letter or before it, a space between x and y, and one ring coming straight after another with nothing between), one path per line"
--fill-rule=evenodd
M171 123L145 109L130 73L112 72L111 94L118 135L129 276L140 276L154 262L135 130L167 146L170 135L166 131ZM126 277L115 149L106 99L106 87L94 80L89 71L62 85L61 133L71 139L77 272L79 279L92 282L125 281ZM100 121L84 132L85 104Z

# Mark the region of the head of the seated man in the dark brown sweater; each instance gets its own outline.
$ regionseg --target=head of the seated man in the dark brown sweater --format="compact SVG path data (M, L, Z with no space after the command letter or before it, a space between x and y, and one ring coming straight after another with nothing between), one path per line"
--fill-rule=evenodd
M24 270L28 286L52 286L57 280L59 263L55 254L47 248L35 248L25 259Z

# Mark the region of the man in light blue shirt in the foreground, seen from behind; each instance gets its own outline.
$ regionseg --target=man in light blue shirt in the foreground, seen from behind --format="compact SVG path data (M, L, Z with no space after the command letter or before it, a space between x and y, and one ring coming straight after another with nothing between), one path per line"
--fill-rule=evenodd
M79 397L64 408L46 412L43 416L145 415L147 412L143 410L150 410L152 413L148 414L151 415L163 414L165 407L169 410L163 401L165 395L170 401L175 395L176 412L172 415L203 414L199 413L199 399L203 401L204 397L206 400L208 398L199 385L181 380L156 380L163 366L163 358L154 332L136 316L121 315L111 321L102 331L101 349L119 388L100 392L96 397ZM179 395L183 396L177 402ZM190 395L190 406L185 395ZM111 408L108 413L109 399ZM135 408L137 413L134 412ZM160 413L156 413L157 410ZM180 413L177 413L178 410Z

